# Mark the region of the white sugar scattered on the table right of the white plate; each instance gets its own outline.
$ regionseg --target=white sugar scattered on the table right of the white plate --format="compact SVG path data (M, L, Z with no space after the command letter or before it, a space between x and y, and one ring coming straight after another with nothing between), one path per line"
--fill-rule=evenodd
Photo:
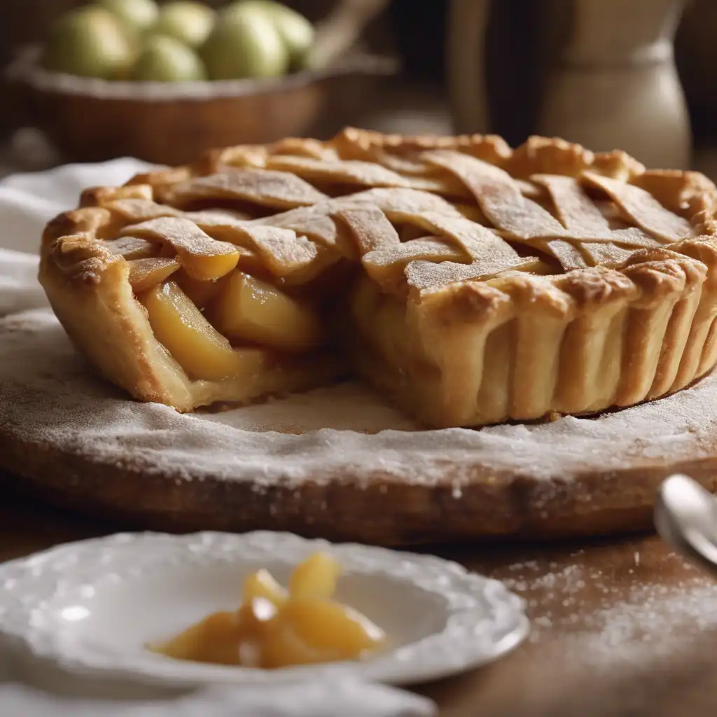
M609 561L594 561L599 549L591 549L560 564L501 569L503 583L522 594L533 613L531 642L561 635L559 649L574 652L581 667L613 668L617 661L673 655L717 628L717 584L657 539L644 545L647 567L630 546L622 556L610 546Z

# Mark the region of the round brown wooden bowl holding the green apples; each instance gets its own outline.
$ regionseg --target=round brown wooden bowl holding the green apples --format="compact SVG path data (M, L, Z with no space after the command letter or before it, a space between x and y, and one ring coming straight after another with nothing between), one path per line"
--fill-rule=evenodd
M397 63L347 56L331 70L272 80L107 82L48 72L39 49L9 68L28 121L44 130L67 161L133 156L181 164L212 147L259 144L286 136L322 136L351 121L379 77Z

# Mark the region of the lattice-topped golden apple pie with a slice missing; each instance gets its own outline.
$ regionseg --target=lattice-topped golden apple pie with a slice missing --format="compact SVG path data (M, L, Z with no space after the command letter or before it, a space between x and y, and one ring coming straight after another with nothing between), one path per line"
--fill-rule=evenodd
M87 189L40 281L179 411L362 376L432 427L591 414L717 362L717 189L622 151L348 128Z

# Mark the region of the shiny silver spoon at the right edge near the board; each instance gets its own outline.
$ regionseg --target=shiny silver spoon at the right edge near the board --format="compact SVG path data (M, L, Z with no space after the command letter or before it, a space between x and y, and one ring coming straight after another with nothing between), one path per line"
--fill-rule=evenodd
M670 475L657 490L655 528L665 543L717 577L717 500L687 475Z

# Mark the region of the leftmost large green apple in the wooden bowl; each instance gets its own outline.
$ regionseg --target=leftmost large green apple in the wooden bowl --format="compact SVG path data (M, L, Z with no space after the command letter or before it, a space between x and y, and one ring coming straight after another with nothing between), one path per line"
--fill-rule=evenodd
M49 32L42 65L54 72L114 80L134 62L136 47L109 11L85 6L60 18Z

